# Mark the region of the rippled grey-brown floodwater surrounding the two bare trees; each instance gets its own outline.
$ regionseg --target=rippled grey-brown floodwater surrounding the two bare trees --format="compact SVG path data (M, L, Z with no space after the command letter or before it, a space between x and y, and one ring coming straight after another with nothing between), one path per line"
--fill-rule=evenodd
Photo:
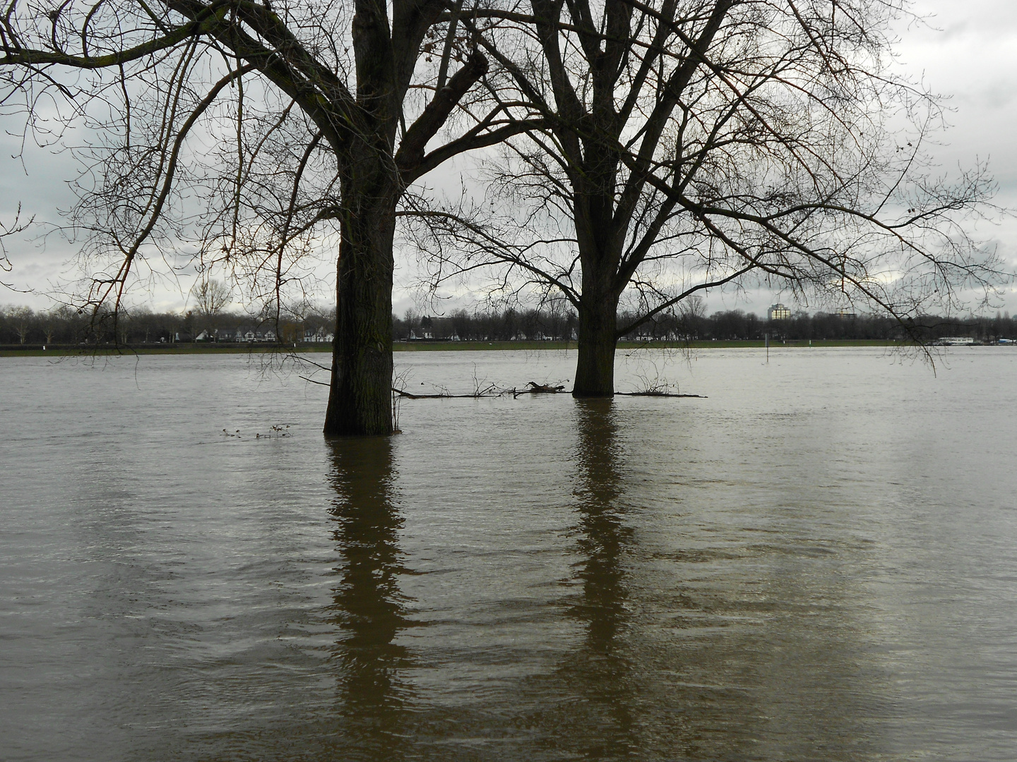
M0 360L0 758L1017 758L1017 351L258 363Z

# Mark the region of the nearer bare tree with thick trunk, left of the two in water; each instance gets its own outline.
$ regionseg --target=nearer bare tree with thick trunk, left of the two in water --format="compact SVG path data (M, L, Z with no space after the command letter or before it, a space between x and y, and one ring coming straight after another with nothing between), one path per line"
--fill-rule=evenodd
M132 278L189 248L278 317L302 258L338 239L324 430L384 434L396 208L445 160L532 126L475 97L483 23L444 0L12 3L0 97L22 99L29 127L52 102L98 135L74 219L94 314L115 317Z

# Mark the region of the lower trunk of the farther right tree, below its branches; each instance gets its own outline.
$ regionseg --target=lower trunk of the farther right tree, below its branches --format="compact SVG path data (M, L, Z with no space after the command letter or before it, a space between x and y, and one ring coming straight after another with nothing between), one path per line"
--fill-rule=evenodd
M583 290L579 309L579 360L574 397L614 396L614 347L618 299Z

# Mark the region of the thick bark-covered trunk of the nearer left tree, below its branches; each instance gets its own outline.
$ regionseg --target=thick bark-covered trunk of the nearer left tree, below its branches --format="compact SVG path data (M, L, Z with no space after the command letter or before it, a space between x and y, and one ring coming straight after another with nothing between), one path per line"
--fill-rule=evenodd
M324 434L392 434L392 287L398 179L373 156L343 188L336 341ZM372 161L373 158L373 161ZM373 165L364 167L364 165Z

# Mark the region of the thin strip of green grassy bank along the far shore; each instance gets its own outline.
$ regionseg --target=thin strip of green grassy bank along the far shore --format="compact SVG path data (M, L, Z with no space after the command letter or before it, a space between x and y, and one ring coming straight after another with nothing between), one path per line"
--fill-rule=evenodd
M899 341L886 341L883 339L831 339L814 340L812 346L896 346ZM710 350L710 348L763 348L763 341L619 341L619 350ZM770 346L774 350L780 347L805 347L810 346L807 340L802 341L771 341ZM396 352L471 352L481 350L575 350L575 341L397 341L393 345ZM124 346L119 350L114 347L75 346L55 344L43 350L38 344L25 347L0 346L0 358L3 357L52 357L61 355L216 355L216 354L244 354L244 353L265 353L265 352L289 352L291 347L275 346L271 344L217 344L217 343L173 343L173 344L145 344L141 346ZM301 344L296 347L297 352L332 352L331 344Z

